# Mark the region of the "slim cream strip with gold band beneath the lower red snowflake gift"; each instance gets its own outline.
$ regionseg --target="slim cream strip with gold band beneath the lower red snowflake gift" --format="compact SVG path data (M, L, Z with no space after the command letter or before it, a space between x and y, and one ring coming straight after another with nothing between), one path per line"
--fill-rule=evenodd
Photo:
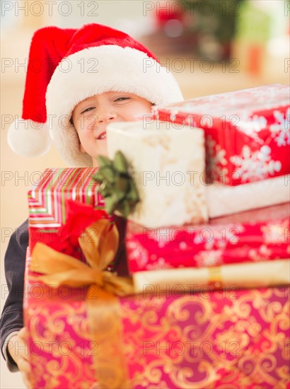
M219 267L179 267L133 274L137 293L156 290L204 291L290 284L290 260L245 262Z

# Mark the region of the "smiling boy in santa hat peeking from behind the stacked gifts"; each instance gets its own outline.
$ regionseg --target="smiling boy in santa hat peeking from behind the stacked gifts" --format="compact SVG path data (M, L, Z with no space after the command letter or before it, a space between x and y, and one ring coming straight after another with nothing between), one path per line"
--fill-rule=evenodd
M98 24L42 28L30 46L23 120L9 128L8 144L22 156L40 156L51 137L69 166L97 166L98 155L106 153L108 122L131 121L151 112L151 105L180 100L172 74L129 35ZM22 328L27 246L25 221L11 236L5 257L9 295L1 316L1 349L8 368L19 369L30 387Z

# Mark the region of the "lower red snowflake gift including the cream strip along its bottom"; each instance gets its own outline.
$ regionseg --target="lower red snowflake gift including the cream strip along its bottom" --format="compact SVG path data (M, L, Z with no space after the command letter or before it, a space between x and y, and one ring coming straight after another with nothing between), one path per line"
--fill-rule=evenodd
M290 283L290 209L280 204L199 226L127 225L136 291L202 291Z

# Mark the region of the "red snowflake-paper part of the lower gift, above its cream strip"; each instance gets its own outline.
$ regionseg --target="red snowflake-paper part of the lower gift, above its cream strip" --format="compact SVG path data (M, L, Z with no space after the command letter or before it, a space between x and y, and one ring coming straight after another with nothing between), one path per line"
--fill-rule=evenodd
M211 219L200 226L146 228L128 222L131 273L290 257L289 204Z

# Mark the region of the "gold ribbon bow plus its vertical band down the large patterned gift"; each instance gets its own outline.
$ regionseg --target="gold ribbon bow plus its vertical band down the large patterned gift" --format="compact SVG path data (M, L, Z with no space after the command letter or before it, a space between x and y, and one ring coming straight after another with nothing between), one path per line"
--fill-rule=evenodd
M86 303L91 337L98 344L98 355L93 358L100 388L130 387L122 342L122 312L117 296L133 294L133 282L129 277L117 277L105 270L115 257L118 244L117 227L107 219L100 219L79 237L88 265L43 243L36 243L30 263L33 272L45 274L39 277L45 284L73 288L90 286ZM95 291L91 293L95 285L99 286L98 295L90 298L95 296Z

